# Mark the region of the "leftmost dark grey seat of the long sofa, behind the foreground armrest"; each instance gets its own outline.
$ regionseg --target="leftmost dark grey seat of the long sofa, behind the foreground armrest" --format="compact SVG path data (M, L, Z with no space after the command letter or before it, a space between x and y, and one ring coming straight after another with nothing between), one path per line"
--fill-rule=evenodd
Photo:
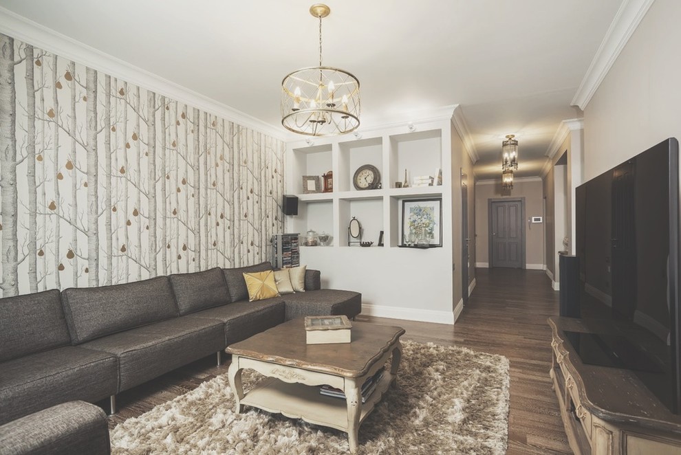
M0 368L0 424L65 401L99 401L116 393L113 355L80 346L26 355Z

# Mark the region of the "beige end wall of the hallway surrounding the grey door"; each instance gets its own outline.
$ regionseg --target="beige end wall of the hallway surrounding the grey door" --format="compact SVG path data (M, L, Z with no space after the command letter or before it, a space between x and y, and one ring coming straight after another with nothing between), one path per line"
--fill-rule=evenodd
M526 229L526 265L528 268L542 267L544 264L544 236L543 224L532 224L528 229L527 219L543 216L543 186L539 179L530 181L516 181L513 189L501 191L501 181L490 184L489 181L478 182L475 185L475 244L477 263L489 263L488 247L488 200L501 197L525 198L525 229Z

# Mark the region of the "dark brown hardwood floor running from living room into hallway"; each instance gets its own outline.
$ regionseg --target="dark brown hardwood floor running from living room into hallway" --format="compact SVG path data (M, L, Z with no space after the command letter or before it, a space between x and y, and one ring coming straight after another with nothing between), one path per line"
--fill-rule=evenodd
M373 318L358 320L404 327L403 338L466 346L510 360L508 454L572 454L548 375L551 333L546 319L558 314L558 293L543 271L476 269L477 285L455 326ZM225 357L225 356L223 356ZM118 395L109 428L151 410L203 381L226 373L206 357ZM102 403L105 409L105 403Z

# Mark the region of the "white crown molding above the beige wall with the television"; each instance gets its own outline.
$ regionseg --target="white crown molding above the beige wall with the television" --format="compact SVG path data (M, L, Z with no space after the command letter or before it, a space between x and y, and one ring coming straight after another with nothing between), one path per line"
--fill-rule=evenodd
M572 98L572 105L579 106L582 111L587 107L594 93L601 85L617 57L624 49L636 27L648 12L655 0L625 0L615 14L610 27L605 33L596 55L589 65L579 89Z

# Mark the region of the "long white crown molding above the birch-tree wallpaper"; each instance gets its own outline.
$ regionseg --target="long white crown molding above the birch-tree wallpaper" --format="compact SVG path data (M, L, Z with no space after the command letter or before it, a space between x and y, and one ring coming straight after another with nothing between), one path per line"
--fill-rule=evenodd
M197 107L202 109L202 111L219 115L241 126L260 131L279 140L285 140L286 135L283 127L277 129L277 127L263 122L252 115L237 111L237 109L233 109L227 104L208 98L201 93L131 65L120 58L106 54L85 43L80 43L80 41L30 21L3 7L0 7L0 32L25 43L40 47L47 52L52 52L60 57L68 58L81 65L97 69L115 78L139 85L144 89L186 103L192 107Z

